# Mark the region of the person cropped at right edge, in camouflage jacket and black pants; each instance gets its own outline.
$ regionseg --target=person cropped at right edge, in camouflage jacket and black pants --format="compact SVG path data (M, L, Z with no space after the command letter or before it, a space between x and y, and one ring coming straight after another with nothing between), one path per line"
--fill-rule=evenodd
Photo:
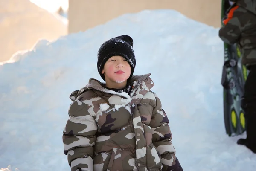
M256 0L232 0L219 37L226 43L237 43L242 64L250 71L244 85L243 108L247 119L247 138L237 144L256 153Z

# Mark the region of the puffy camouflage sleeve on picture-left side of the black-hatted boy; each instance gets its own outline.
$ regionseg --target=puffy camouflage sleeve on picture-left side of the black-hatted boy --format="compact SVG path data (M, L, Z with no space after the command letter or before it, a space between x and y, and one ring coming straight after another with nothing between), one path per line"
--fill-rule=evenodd
M68 111L70 119L63 131L64 154L71 171L93 171L97 125L87 106L77 99L73 101Z

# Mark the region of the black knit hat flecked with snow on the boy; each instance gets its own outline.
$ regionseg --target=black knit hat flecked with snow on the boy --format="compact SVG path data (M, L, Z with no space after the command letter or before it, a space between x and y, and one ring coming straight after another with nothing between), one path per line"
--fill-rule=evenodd
M125 58L131 66L130 79L134 73L136 65L136 59L133 51L133 39L128 35L122 35L115 38L111 38L102 44L98 51L98 72L102 79L105 81L105 76L102 74L102 70L106 61L112 56L122 56Z

